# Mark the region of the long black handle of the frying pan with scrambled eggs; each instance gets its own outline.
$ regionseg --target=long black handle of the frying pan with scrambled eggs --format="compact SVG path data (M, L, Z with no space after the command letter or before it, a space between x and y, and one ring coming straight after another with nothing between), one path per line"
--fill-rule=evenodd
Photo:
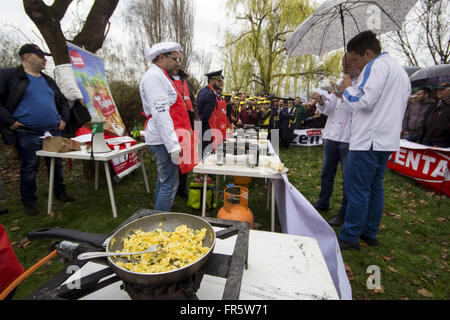
M88 243L96 248L102 248L107 237L108 235L106 234L87 233L78 230L59 228L43 228L28 233L28 239L30 240L39 238L57 238Z

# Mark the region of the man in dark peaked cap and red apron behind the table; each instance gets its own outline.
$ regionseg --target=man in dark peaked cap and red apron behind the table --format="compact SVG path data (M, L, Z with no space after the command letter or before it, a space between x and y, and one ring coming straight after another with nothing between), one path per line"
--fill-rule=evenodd
M208 85L201 89L197 95L197 108L202 121L202 153L212 142L214 149L222 144L226 138L227 110L226 102L222 99L223 76L222 70L205 74Z

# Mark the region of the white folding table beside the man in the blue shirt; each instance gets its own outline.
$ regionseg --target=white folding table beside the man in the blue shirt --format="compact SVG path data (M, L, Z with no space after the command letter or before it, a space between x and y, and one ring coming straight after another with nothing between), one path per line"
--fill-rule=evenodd
M137 152L140 163L138 166L142 167L142 175L144 176L144 182L145 182L145 189L147 190L147 193L150 193L150 188L147 181L147 173L145 171L144 166L144 158L142 155L143 149L146 148L145 143L139 143L134 146L131 146L126 149L118 150L118 151L111 151L107 153L94 153L93 158L91 156L91 153L88 151L72 151L72 152L65 152L65 153L58 153L58 152L48 152L40 150L36 152L37 156L41 157L49 157L50 158L50 179L49 179L49 190L48 190L48 210L47 213L51 214L52 212L52 202L53 202L53 185L54 185L54 177L55 177L55 159L56 158L65 158L65 159L78 159L78 160L94 160L95 162L95 190L98 190L98 164L99 162L104 163L105 167L105 174L106 174L106 182L108 184L108 191L109 191L109 198L111 200L111 207L113 211L113 217L117 218L117 209L116 209L116 203L114 200L114 193L113 193L113 187L111 182L111 175L109 173L109 161L128 155L133 152Z

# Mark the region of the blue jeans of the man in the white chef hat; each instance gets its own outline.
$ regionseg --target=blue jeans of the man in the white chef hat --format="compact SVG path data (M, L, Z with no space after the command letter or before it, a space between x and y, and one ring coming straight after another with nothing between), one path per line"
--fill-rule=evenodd
M170 212L178 190L179 169L164 145L148 146L155 157L158 176L155 187L155 210Z

